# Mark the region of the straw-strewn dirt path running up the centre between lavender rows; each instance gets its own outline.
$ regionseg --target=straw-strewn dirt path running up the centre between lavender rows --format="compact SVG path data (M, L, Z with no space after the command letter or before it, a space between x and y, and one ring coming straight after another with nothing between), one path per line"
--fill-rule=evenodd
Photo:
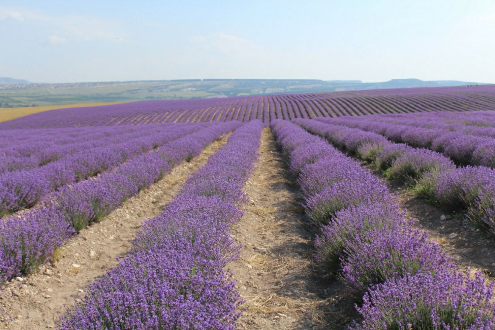
M337 325L346 319L343 285L313 267L315 228L269 128L245 191L250 201L232 230L241 258L228 266L246 300L237 329L347 329Z

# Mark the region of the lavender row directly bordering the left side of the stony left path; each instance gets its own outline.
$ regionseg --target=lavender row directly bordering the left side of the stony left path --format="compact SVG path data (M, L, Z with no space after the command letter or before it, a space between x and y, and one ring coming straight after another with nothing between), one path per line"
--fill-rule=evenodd
M64 186L39 208L0 221L0 283L33 272L54 249L88 224L100 221L126 199L192 159L240 122L209 124L93 179Z

